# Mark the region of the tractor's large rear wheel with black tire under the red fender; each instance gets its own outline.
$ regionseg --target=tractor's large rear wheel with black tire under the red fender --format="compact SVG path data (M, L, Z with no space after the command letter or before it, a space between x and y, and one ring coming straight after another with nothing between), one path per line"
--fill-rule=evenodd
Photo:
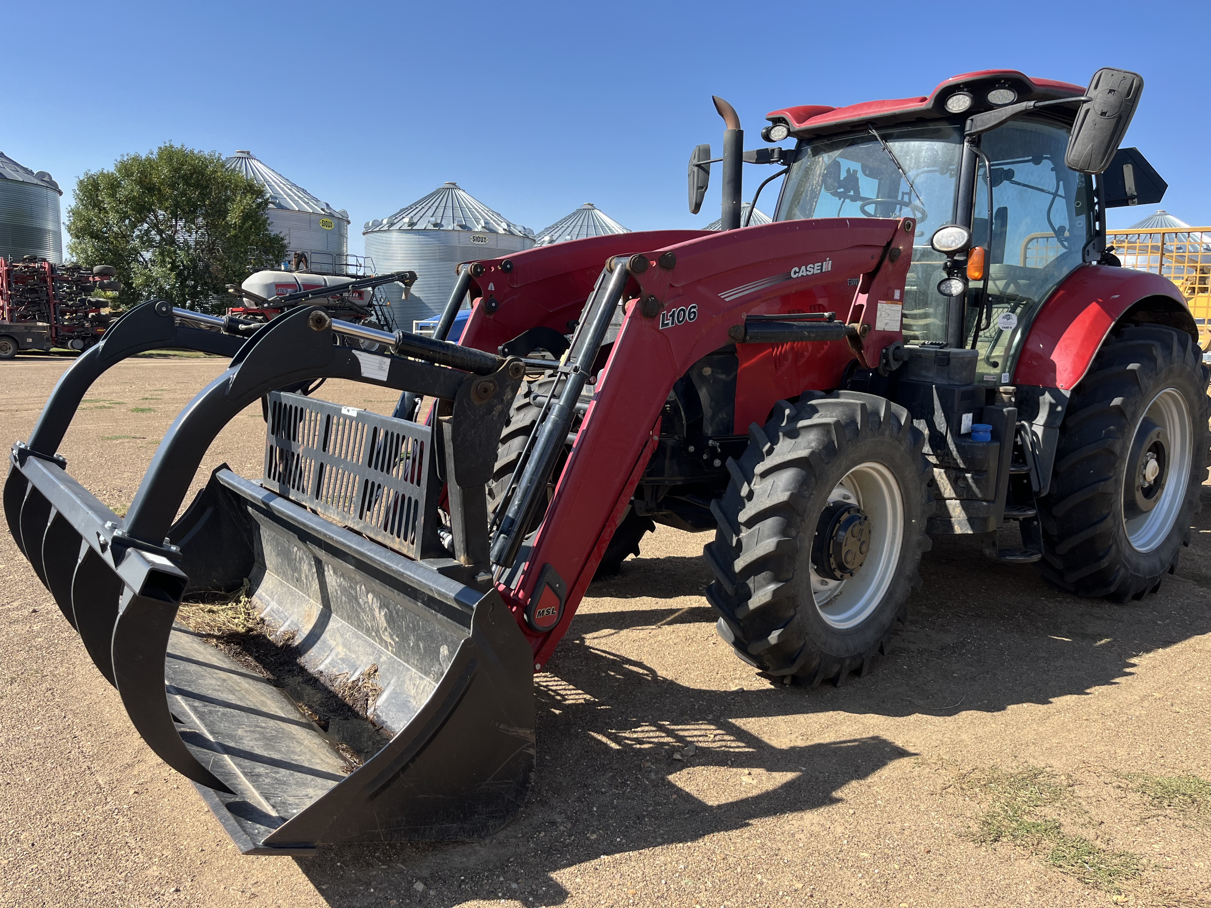
M1044 577L1110 602L1160 588L1207 478L1206 391L1186 332L1127 324L1106 339L1068 402L1039 500Z

